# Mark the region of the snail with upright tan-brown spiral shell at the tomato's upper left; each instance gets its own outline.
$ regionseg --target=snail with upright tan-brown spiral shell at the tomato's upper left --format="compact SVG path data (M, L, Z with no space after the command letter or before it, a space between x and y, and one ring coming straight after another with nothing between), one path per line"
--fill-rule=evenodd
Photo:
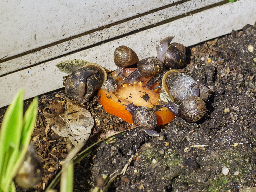
M114 62L117 66L116 77L124 74L124 68L133 65L139 61L137 54L129 47L121 45L115 49Z

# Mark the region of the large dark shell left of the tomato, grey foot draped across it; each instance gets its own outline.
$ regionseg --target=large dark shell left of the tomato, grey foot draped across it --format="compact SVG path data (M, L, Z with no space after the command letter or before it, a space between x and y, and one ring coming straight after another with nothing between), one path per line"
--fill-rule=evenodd
M88 63L67 76L64 86L69 98L77 101L88 100L107 80L105 69L97 63Z

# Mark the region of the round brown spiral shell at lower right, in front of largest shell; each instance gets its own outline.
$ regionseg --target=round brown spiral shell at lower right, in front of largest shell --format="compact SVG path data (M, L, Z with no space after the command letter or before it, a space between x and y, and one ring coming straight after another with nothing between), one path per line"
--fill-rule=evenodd
M179 106L179 116L187 122L196 122L200 120L206 111L205 102L197 96L186 98Z

